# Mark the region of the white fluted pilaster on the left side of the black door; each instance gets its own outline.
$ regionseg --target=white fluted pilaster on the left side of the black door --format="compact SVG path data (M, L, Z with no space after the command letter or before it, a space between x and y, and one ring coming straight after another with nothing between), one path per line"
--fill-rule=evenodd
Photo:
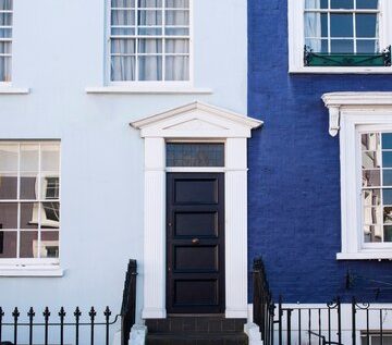
M146 138L144 214L144 319L166 318L164 167L164 139Z

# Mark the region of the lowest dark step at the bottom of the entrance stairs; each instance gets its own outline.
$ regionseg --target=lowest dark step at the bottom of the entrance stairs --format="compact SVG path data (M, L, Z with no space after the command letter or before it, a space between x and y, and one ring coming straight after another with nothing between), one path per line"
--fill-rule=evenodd
M245 333L155 333L147 334L146 345L247 345Z

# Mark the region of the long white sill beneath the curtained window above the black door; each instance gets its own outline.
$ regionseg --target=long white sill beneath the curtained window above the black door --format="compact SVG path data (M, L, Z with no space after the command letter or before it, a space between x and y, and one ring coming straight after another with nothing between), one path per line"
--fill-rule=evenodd
M133 87L133 86L97 86L86 87L87 94L151 94L151 95L210 95L212 90L209 88L196 88L196 87L173 87L173 86L161 86L161 87Z

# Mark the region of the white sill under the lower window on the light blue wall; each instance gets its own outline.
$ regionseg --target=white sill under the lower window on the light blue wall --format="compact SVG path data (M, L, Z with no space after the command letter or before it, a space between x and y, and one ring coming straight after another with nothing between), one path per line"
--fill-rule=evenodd
M0 276L63 276L60 266L0 266Z

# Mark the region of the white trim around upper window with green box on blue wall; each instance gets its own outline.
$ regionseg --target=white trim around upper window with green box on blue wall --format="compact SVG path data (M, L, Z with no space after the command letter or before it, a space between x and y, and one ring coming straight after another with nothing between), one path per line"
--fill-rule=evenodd
M380 47L392 44L392 1L380 1ZM392 73L392 66L380 67L313 67L304 66L304 11L305 0L287 0L289 19L289 73L316 74L385 74Z

